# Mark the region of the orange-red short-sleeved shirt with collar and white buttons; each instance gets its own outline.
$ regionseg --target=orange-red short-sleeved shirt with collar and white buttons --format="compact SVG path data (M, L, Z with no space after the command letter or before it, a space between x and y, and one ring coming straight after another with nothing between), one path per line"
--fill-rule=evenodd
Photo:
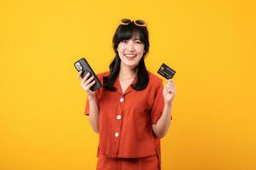
M162 116L164 99L162 79L149 72L149 83L141 91L129 86L124 94L117 78L117 91L101 87L95 91L100 111L98 154L109 157L135 158L157 154L160 160L160 139L152 130ZM103 77L109 71L97 75L103 84ZM137 81L137 77L134 81ZM85 114L88 115L88 100Z

